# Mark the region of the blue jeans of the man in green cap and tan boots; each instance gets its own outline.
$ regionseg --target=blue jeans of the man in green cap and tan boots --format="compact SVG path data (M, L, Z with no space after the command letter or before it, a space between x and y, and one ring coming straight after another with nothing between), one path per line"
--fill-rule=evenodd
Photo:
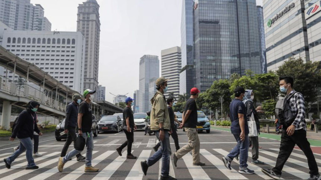
M91 166L91 159L92 159L92 150L94 149L94 139L93 139L93 135L92 132L89 133L82 133L82 137L85 138L86 141L86 167L90 167ZM66 163L70 158L74 157L75 155L81 153L82 151L78 151L76 149L73 149L72 151L68 152L68 154L65 155L65 157L63 158L63 163Z

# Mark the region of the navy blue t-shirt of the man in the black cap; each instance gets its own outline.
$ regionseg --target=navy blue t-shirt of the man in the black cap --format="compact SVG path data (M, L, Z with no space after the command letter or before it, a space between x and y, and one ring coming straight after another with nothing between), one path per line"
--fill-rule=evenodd
M245 120L245 134L248 134L248 125L247 125L247 117L246 117L246 109L244 103L239 99L234 99L230 103L230 118L231 118L231 133L232 134L241 134L241 128L239 125L239 115L244 114Z

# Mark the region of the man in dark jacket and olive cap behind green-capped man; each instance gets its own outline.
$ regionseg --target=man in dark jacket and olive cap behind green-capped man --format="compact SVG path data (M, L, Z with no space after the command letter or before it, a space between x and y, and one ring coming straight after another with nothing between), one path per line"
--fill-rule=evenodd
M77 135L75 132L78 117L78 105L81 102L80 94L73 95L73 102L69 103L66 108L66 118L65 118L65 133L67 134L66 143L61 151L60 157L64 157L67 153L68 147L72 141L76 141ZM80 153L76 155L77 161L84 161L86 158Z

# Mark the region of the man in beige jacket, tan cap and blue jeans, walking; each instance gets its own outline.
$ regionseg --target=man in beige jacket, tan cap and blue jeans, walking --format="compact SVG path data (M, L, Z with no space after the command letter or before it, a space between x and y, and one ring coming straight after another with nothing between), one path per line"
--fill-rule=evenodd
M176 178L169 176L169 162L170 162L170 143L169 143L169 131L170 120L169 113L166 105L164 93L167 92L167 81L164 77L160 77L156 80L156 93L151 99L152 111L151 111L151 130L155 132L157 139L160 140L161 148L156 151L147 161L142 161L141 166L144 175L146 176L148 167L155 164L160 158L162 158L161 166L161 180L176 180Z

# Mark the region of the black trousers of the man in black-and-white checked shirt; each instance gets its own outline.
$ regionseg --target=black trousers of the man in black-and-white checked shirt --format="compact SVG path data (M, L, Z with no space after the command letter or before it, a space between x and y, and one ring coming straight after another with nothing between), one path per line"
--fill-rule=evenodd
M281 175L282 168L285 162L288 160L295 144L304 152L308 160L309 174L311 176L319 174L316 159L310 148L310 143L307 139L307 132L304 129L299 129L294 132L293 135L288 136L286 130L283 129L281 135L281 144L278 158L276 159L275 167L272 169L275 174Z

